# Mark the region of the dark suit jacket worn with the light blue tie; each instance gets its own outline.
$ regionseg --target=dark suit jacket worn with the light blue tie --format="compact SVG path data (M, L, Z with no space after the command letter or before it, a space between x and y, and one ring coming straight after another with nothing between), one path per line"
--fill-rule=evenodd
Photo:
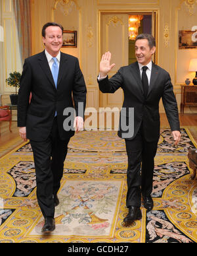
M30 92L32 100L29 104ZM60 53L58 84L55 82L45 55L45 51L29 57L24 62L18 97L18 127L26 127L26 137L33 141L45 141L51 132L55 112L57 112L60 138L66 140L74 131L64 131L65 108L75 106L76 115L85 110L86 86L76 57ZM72 102L74 98L74 106ZM83 102L82 112L78 103Z

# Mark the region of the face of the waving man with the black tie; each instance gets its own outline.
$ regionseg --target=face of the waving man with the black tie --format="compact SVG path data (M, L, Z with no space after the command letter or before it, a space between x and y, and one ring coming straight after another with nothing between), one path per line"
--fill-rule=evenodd
M139 39L135 42L135 56L137 61L144 66L151 61L155 50L155 47L150 49L147 39Z

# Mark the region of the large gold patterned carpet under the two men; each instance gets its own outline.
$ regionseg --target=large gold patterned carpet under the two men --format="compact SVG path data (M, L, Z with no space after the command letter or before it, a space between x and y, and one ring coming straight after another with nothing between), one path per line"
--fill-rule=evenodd
M125 227L127 155L116 131L83 131L72 137L58 193L56 230L43 236L35 195L32 148L24 143L0 158L1 243L196 243L197 178L187 152L196 148L196 127L182 127L179 146L161 129L155 158L154 208ZM11 146L11 145L9 145ZM5 147L6 150L6 147ZM1 149L2 151L2 149Z

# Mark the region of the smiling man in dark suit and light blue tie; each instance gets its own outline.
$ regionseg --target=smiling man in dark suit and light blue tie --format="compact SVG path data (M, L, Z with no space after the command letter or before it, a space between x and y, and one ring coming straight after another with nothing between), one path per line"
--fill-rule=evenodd
M62 35L60 24L43 26L45 51L25 60L18 97L19 133L24 141L30 139L33 150L37 201L45 218L42 232L55 230L64 160L74 130L83 129L87 92L77 58L60 52ZM75 119L66 111L73 107Z

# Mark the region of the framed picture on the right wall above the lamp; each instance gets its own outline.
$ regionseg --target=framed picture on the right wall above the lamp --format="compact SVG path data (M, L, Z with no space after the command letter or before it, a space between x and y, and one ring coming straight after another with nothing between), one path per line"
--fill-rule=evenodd
M197 49L197 31L179 30L179 49Z

